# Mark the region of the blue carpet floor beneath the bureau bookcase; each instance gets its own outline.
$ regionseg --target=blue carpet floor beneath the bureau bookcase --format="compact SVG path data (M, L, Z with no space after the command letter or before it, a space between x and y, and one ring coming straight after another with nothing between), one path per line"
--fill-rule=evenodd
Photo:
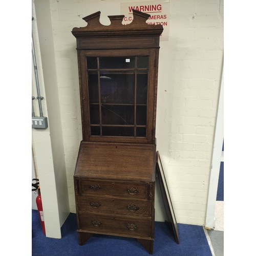
M32 256L143 256L150 255L133 238L95 234L86 244L78 244L76 215L70 214L61 227L62 238L42 233L37 210L32 210ZM154 254L159 256L211 256L202 226L178 224L180 244L167 223L155 222Z

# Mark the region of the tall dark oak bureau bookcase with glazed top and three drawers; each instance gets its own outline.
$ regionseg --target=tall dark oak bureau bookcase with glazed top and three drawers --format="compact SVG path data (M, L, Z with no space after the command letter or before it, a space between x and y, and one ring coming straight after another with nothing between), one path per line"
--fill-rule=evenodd
M74 28L82 141L74 174L79 244L94 233L136 238L153 253L156 99L161 25L133 10Z

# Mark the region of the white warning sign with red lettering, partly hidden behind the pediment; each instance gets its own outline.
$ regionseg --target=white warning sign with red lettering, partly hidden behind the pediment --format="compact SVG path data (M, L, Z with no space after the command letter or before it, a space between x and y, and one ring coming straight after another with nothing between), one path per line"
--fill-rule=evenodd
M124 25L130 24L133 21L133 9L150 14L151 16L147 19L146 23L162 25L163 33L160 36L160 40L169 40L169 1L121 3L121 13L125 15L123 18Z

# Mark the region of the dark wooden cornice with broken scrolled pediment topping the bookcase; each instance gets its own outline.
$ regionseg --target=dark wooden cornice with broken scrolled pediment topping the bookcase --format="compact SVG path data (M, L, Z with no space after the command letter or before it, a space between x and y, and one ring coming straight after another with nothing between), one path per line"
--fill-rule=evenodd
M112 15L108 17L111 24L105 26L100 23L100 11L88 15L83 18L88 25L86 27L73 28L72 34L76 38L89 36L160 36L163 31L162 25L147 24L146 20L150 15L140 11L133 10L133 21L127 25L122 24L124 15Z

